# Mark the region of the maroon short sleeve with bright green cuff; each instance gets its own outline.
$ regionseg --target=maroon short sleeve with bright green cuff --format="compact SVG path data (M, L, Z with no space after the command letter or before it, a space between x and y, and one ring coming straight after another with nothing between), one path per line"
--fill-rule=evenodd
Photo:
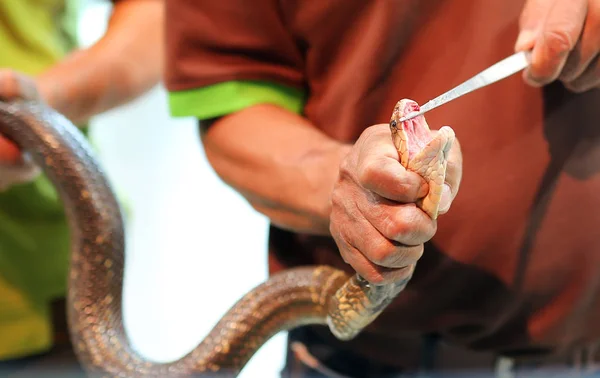
M207 119L259 103L302 111L302 52L277 0L169 0L166 17L173 116Z

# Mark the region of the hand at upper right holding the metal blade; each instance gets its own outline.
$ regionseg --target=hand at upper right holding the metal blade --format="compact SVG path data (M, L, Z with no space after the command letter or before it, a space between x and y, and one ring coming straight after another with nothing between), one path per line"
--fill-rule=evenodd
M562 81L574 92L600 86L600 1L528 0L515 50L531 50L525 80Z

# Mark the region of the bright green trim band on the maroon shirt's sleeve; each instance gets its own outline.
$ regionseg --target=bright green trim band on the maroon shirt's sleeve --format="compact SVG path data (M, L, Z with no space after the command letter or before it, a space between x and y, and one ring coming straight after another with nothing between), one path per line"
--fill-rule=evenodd
M202 88L172 91L169 108L174 117L209 119L230 114L257 104L274 104L301 113L304 92L267 81L234 80Z

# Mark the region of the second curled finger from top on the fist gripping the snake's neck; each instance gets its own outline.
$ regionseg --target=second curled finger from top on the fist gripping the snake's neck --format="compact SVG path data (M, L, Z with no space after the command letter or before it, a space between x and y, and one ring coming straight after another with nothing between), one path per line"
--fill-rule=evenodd
M437 229L437 222L413 203L398 204L371 196L368 201L358 201L357 208L383 237L406 246L429 241Z

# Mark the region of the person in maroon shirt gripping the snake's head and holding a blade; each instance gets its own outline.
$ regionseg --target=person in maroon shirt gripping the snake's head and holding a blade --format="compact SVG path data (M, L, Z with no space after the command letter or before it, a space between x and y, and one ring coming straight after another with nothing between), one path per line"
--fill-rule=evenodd
M412 277L351 341L289 332L283 376L598 366L598 1L170 0L167 15L171 114L199 120L216 173L269 217L270 272ZM524 77L426 114L460 140L433 221L394 105L515 49L531 50Z

